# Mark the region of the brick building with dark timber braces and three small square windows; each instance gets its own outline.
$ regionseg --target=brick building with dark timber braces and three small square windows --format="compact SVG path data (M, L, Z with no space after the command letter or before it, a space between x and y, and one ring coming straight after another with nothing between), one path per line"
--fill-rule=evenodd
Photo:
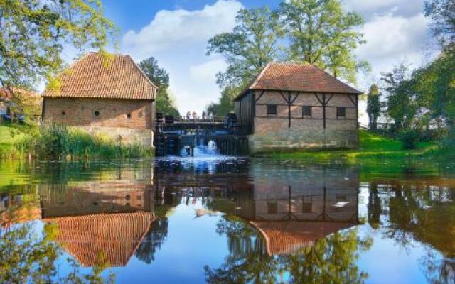
M252 153L356 148L359 94L313 65L272 62L235 106Z

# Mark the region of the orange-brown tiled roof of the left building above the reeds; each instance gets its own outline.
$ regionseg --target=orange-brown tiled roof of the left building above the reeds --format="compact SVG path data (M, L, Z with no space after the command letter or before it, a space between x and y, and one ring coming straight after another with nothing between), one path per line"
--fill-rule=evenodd
M158 91L129 55L87 53L62 72L43 97L155 99Z

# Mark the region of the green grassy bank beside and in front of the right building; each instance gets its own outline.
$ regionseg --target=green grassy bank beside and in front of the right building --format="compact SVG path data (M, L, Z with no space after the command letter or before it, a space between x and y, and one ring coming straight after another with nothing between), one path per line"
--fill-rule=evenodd
M394 159L394 158L444 158L446 151L434 143L419 143L417 149L404 150L401 141L366 130L359 131L360 147L355 150L297 151L274 153L274 158L310 159ZM454 155L451 155L452 157Z

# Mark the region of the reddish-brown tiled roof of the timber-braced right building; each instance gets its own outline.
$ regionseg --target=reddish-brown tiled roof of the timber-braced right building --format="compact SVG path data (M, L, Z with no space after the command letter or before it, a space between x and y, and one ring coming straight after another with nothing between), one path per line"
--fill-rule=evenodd
M250 89L362 94L314 65L280 62L267 64L237 98Z

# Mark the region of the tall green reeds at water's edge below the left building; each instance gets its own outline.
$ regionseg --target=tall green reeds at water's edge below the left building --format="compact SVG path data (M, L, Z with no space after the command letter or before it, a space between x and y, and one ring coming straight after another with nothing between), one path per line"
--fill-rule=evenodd
M137 144L122 144L105 136L91 136L85 131L63 124L39 126L36 133L18 141L14 146L22 156L40 159L124 159L153 156L153 148Z

